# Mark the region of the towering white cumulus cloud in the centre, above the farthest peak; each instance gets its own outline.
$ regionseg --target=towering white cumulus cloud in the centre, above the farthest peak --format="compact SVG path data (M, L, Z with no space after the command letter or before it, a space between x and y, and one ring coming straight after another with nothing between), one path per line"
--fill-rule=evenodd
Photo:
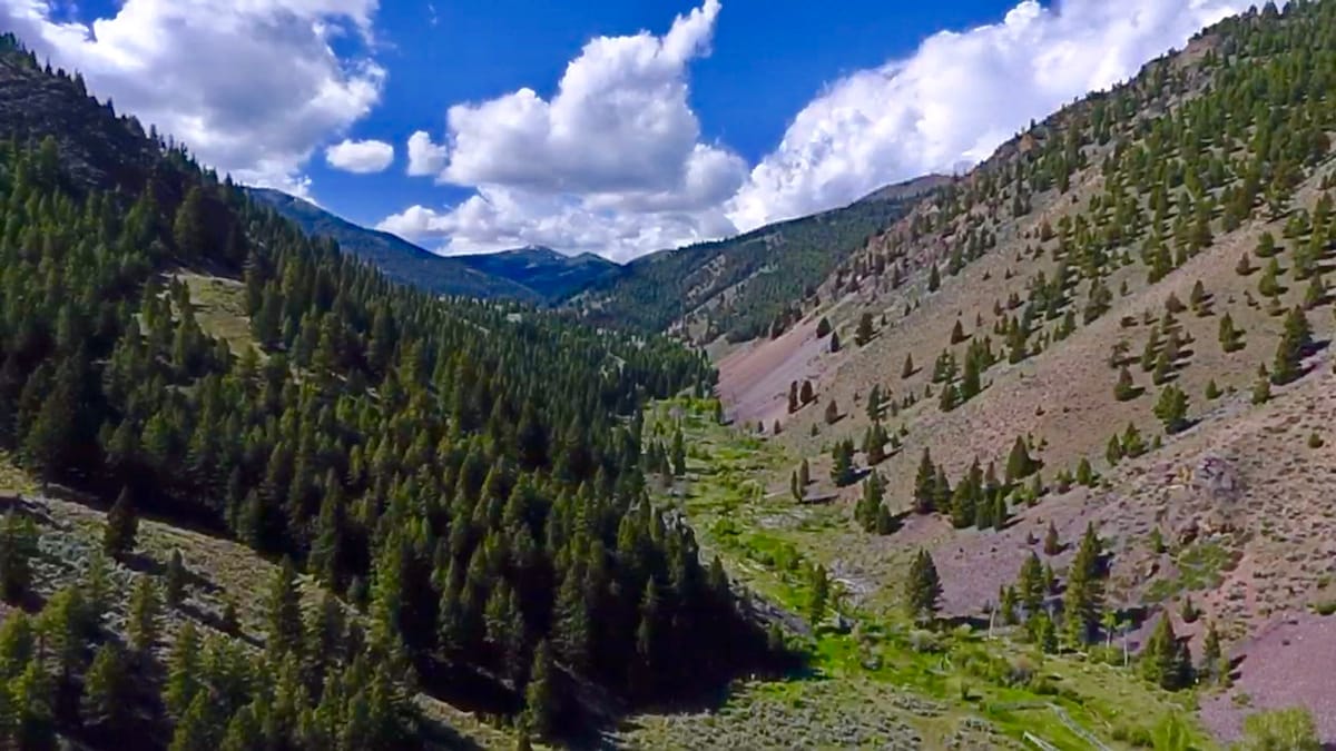
M414 206L381 229L446 251L550 245L631 255L733 231L723 203L745 162L701 140L687 67L709 52L717 0L667 33L591 40L550 99L532 88L446 112L444 143L409 139L410 175L476 188L453 208Z

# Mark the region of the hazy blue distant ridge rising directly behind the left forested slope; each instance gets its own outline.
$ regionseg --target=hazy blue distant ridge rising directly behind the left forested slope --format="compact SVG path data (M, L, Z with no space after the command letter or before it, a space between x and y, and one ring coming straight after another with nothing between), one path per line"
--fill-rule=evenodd
M270 188L247 188L257 200L295 222L303 231L338 242L347 253L374 263L386 277L438 295L541 302L529 287L457 258L437 255L389 233L369 230L323 208Z

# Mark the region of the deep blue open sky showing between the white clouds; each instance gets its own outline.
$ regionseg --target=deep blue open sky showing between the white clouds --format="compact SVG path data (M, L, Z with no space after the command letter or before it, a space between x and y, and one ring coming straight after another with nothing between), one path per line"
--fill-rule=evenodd
M591 37L667 29L691 1L640 0L546 3L440 0L437 23L429 4L382 5L378 37L389 49L383 106L351 136L399 147L417 130L444 124L460 102L490 99L521 87L550 96L566 63ZM941 4L851 0L840 13L826 4L779 0L725 3L712 52L691 65L691 104L707 140L727 143L748 162L764 156L787 122L842 73L879 65L911 52L942 28L963 28L1001 17L1013 3L965 0ZM374 224L413 203L456 203L468 188L403 179L402 148L395 167L377 175L347 175L314 163L313 194L327 208Z

